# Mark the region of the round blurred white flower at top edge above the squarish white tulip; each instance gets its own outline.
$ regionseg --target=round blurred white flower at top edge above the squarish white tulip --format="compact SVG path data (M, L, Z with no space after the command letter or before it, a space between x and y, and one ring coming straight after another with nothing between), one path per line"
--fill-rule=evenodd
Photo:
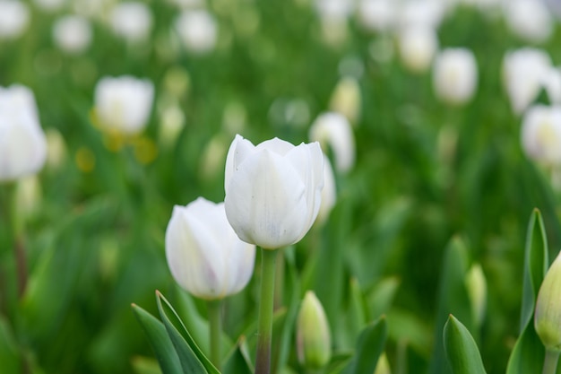
M148 39L152 28L152 13L143 3L118 3L111 11L110 22L119 37L134 43Z

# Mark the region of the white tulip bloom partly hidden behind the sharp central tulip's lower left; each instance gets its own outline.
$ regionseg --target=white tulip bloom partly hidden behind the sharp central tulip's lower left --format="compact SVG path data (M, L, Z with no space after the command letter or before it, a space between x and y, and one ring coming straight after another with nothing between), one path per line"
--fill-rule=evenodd
M199 197L173 208L166 230L166 257L183 289L215 300L246 287L254 271L255 246L237 238L226 219L224 203Z

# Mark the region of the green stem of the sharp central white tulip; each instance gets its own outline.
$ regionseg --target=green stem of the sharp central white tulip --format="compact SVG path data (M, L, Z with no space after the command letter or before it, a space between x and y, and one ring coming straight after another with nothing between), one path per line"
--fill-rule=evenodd
M277 251L261 248L261 300L255 374L271 372L272 307Z

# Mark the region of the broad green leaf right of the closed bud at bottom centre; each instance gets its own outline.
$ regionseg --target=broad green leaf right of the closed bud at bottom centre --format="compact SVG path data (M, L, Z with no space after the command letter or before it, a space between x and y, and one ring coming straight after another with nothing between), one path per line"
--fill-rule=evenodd
M365 327L360 336L355 355L349 365L343 370L344 374L372 373L376 368L378 357L384 352L387 336L385 317L378 318L374 323Z

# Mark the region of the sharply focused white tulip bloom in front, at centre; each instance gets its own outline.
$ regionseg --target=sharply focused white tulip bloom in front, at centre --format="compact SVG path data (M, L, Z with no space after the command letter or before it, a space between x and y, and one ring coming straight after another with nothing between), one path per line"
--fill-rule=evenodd
M226 215L237 236L266 249L297 243L317 217L324 187L319 144L274 138L255 146L240 135L229 147Z

